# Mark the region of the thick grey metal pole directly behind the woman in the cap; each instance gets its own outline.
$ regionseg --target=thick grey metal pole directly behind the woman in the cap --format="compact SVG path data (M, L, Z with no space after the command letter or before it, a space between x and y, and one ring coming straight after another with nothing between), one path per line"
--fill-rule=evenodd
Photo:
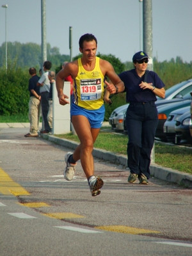
M152 0L143 0L143 51L150 57L148 70L154 70L152 36ZM151 152L151 162L155 163L155 143Z

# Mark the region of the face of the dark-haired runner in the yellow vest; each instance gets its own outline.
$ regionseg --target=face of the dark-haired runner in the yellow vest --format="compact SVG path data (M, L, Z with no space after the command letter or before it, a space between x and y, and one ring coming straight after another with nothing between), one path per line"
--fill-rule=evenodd
M90 42L83 42L83 49L79 49L83 53L83 58L87 61L93 61L97 52L97 45L95 40Z

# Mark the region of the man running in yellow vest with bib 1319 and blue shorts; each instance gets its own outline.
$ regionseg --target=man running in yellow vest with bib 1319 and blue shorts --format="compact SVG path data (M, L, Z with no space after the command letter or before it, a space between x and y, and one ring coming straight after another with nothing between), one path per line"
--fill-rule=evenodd
M115 73L113 66L96 56L97 39L85 34L79 39L79 51L82 57L68 62L56 76L56 88L61 105L69 104L68 96L63 94L63 83L67 76L74 79L74 100L70 115L74 129L80 140L74 153L65 155L64 178L72 180L76 171L76 162L81 159L92 196L100 194L103 180L95 177L93 163L93 144L104 120L104 83L109 93L124 92L124 83ZM104 81L108 76L111 83Z

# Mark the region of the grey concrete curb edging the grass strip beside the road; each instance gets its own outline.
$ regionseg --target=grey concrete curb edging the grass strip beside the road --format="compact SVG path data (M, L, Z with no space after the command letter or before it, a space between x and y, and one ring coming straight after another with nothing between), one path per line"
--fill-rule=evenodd
M40 136L46 140L61 145L62 147L76 149L77 145L79 145L79 143L75 141L61 139L54 135L40 134ZM114 154L107 150L93 148L93 157L127 166L127 157L122 154ZM171 168L165 168L154 163L150 164L150 173L157 179L174 182L180 186L185 186L186 188L192 188L192 175L190 174L172 170Z

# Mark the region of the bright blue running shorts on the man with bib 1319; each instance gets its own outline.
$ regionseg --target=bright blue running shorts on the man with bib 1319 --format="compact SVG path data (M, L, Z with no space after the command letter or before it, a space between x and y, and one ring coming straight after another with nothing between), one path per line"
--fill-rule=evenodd
M104 120L105 107L102 105L99 109L88 110L72 103L70 108L70 119L72 116L86 116L92 128L100 128Z

